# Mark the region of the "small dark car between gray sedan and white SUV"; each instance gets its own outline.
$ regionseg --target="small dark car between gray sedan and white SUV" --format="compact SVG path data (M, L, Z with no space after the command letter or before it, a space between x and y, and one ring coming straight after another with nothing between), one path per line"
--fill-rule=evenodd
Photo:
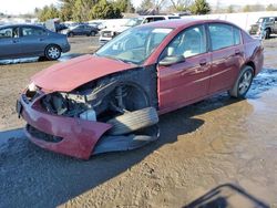
M74 37L74 35L95 37L99 33L99 30L95 27L89 24L79 24L74 27L69 27L68 29L62 30L61 33L68 37Z

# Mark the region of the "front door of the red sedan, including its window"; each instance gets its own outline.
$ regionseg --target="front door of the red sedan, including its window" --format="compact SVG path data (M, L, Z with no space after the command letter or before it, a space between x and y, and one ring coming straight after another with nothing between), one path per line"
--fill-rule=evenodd
M166 59L176 59L176 62L164 65ZM195 25L178 33L158 63L160 110L168 112L206 96L209 69L205 27Z

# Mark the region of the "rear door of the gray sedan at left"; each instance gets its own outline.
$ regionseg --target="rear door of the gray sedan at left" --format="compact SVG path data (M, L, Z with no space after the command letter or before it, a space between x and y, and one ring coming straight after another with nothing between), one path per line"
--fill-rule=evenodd
M40 55L44 53L48 32L43 28L24 25L21 27L20 39L24 55Z

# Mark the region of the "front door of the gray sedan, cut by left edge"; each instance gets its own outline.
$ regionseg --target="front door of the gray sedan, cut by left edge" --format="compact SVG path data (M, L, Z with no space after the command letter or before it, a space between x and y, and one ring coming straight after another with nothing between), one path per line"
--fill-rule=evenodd
M7 27L0 29L0 59L17 58L21 52L19 28Z

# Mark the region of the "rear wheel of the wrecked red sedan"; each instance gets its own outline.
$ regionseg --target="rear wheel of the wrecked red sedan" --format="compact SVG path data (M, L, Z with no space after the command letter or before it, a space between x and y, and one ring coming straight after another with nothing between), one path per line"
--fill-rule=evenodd
M246 65L240 71L233 89L228 91L229 95L236 98L244 98L246 93L250 89L253 77L254 77L253 67Z

